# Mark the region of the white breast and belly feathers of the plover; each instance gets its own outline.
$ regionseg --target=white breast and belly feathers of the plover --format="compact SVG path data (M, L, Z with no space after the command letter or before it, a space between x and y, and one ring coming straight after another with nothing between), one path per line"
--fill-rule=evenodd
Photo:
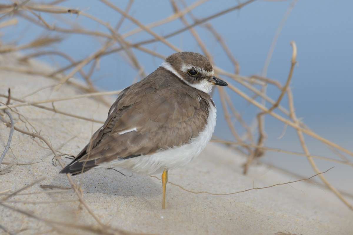
M185 166L197 157L211 140L216 125L216 107L209 104L207 124L199 136L193 138L189 144L180 147L161 150L153 155L138 156L126 160L115 160L100 167L129 168L131 171L151 175L164 170Z

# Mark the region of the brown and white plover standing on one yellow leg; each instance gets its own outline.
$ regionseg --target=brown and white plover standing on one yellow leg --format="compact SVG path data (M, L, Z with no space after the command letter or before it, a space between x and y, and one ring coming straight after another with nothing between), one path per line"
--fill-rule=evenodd
M103 126L60 173L76 175L101 167L162 173L165 209L168 171L191 162L214 132L213 85L228 86L214 75L206 56L188 51L168 56L154 72L118 94Z

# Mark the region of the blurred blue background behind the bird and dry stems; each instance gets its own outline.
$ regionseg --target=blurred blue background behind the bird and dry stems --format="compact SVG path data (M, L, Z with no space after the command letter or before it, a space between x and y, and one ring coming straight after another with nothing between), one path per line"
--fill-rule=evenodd
M214 65L234 76L217 75L269 108L268 102L264 103L261 97L239 81L243 80L277 100L281 93L278 87L262 84L263 80L252 76L275 80L282 86L286 84L291 68L290 42L294 41L298 49L298 63L289 87L297 117L313 132L353 151L352 1L3 0L1 4L1 53L6 54L8 48L12 48L10 52L16 51L50 64L62 76L73 71L77 65L73 61L84 60L113 41L104 48L106 54L100 54L82 68L89 75L89 81L100 91L123 89L144 78L162 63L163 57L176 50L206 54L189 29L177 32L194 24L192 29L208 50ZM175 12L183 11L186 13L180 14L181 17L169 20ZM128 17L122 16L124 12ZM158 24L154 26L156 22ZM174 32L177 33L169 36ZM166 42L160 38L155 40L154 34ZM43 37L55 40L45 45L23 47ZM121 39L123 42L119 41ZM57 52L69 56L71 61ZM74 76L88 81L82 78L81 73L74 73ZM227 93L239 115L235 115L228 104L229 120L241 142L256 145L259 134L256 115L260 110L229 87L225 87L223 92ZM247 156L251 151L239 144L225 120L222 95L226 97L215 89L213 96L218 112L214 137L236 142L231 146ZM288 110L287 94L280 104ZM279 110L274 112L289 119ZM246 123L246 128L239 123L239 117ZM246 136L247 128L252 141ZM270 115L264 116L263 129L266 133L264 146L303 153L295 129ZM342 192L352 194L352 156L338 151L340 156L310 136L305 136L305 140L312 155L345 161L342 164L315 159L320 171L335 166L325 173L325 177ZM255 149L253 146L250 147L252 151ZM345 157L348 159L342 160ZM315 174L305 156L266 151L259 160L303 178Z

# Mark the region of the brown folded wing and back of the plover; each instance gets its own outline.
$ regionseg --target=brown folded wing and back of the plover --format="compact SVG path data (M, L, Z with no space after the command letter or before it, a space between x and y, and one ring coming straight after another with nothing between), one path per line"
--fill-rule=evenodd
M60 173L78 174L114 159L150 155L198 136L207 122L209 96L187 92L189 86L183 94L174 88L135 84L124 90L106 123Z

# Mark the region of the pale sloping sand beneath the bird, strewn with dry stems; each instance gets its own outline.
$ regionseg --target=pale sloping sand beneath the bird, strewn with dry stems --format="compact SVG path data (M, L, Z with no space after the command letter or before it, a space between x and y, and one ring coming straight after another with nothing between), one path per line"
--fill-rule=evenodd
M36 62L16 66L50 69ZM7 94L10 87L12 97L21 98L57 83L37 75L1 71L0 94ZM59 91L49 87L23 99L38 101L78 94L82 94L79 89L65 84ZM114 98L107 100L113 102ZM0 101L5 103L6 99L0 98ZM12 104L18 103L12 101ZM52 103L42 105L53 107ZM94 98L59 101L54 107L102 121L109 109ZM92 132L101 126L33 106L18 107L11 113L18 128L50 139L61 154L76 155L89 141ZM8 120L6 115L2 117ZM6 125L0 125L1 147L5 147L9 131ZM125 175L113 169L94 169L73 180L82 188L89 208L107 225L102 230L77 201L74 191L62 188L71 185L66 175L58 174L61 167L53 165L53 157L52 151L38 138L34 140L14 132L11 150L4 162L30 165L13 165L11 172L0 175L0 225L11 234L120 234L121 231L143 234L353 234L353 211L327 188L307 181L223 196L195 194L168 184L167 209L161 210L160 180L125 169L120 170ZM65 164L71 161L65 156L61 159ZM255 163L249 174L243 175L245 160L226 146L209 143L187 167L170 171L169 181L194 192L231 193L297 180L293 175L261 163ZM5 166L2 164L1 168ZM156 176L160 178L160 175ZM7 198L8 194L41 178L44 179ZM41 188L41 185L61 188ZM6 233L0 229L0 234Z

